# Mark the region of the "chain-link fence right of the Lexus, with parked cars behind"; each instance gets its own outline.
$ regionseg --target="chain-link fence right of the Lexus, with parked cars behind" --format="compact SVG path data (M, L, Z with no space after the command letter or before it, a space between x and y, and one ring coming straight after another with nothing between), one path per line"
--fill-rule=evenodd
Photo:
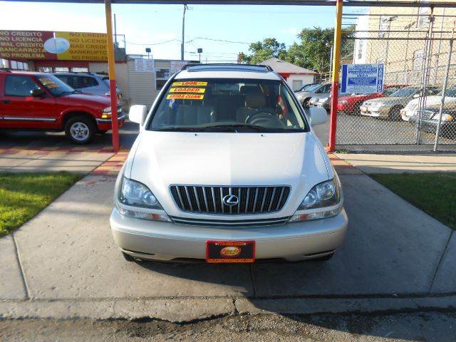
M453 33L424 18L398 29L410 18L376 16L378 29L343 37L355 40L353 63L383 64L385 79L383 93L339 94L337 149L456 151Z

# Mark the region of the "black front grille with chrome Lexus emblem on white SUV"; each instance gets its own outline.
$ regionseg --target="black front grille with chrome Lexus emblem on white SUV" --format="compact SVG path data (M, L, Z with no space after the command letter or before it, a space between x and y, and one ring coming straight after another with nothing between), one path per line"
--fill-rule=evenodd
M182 212L246 215L279 212L290 195L291 187L171 185L170 191L172 199ZM234 197L229 202L237 204L227 204L230 195Z

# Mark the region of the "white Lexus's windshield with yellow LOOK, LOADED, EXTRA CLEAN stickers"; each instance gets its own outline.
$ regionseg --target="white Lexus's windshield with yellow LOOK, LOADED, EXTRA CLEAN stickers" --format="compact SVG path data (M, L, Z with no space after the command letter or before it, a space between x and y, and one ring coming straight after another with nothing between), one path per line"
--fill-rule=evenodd
M273 80L207 78L175 81L148 130L306 132L291 93Z

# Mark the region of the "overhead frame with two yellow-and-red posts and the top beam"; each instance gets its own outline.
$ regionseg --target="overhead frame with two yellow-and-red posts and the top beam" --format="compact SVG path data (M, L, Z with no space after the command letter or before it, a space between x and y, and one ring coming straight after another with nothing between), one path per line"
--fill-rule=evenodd
M329 142L326 146L328 152L336 149L336 123L337 123L337 100L338 100L338 71L341 48L341 23L342 7L442 7L456 8L455 0L440 0L424 2L421 0L4 0L16 2L48 2L48 3L73 3L73 4L105 4L106 31L108 42L108 68L110 79L110 93L115 94L115 61L113 46L113 25L111 22L111 4L172 4L172 5L288 5L288 6L334 6L336 8L336 25L334 30L333 49L333 75L331 89L331 123L329 130ZM113 123L113 150L117 152L119 145L117 98L110 97L111 120Z

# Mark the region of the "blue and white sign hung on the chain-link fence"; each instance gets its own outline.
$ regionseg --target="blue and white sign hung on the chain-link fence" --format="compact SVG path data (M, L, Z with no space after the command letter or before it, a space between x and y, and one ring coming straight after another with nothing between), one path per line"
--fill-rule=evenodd
M383 71L383 64L343 64L341 93L381 93Z

